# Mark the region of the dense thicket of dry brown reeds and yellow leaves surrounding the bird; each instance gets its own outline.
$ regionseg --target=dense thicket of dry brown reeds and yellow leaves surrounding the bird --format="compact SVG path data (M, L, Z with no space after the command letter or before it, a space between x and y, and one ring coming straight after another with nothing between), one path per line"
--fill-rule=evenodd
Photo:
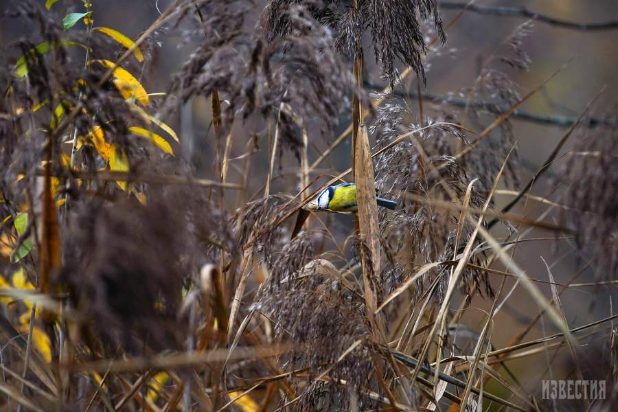
M370 100L361 87L367 46L391 87L411 72L426 80L423 27L446 41L433 0L273 0L264 8L177 0L124 45L95 36L90 24L63 30L57 10L72 10L60 4L52 12L16 6L13 17L34 36L0 57L0 407L356 412L433 410L433 402L450 411L482 399L483 409L490 400L526 411L538 394L529 400L535 389L523 382L548 376L512 367L529 356L543 356L550 376L606 378L615 398L615 368L588 365L567 332L567 285L548 265L549 304L535 286L548 273L520 268L538 256L512 249L547 240L528 227L572 230L584 258L595 253L586 263L612 284L615 116L579 126L564 205L531 196L566 210L564 228L493 208L499 183L517 182L508 113L526 97L503 68L531 69L529 23L463 89L481 104L457 113L394 93ZM146 101L131 90L148 84L157 39L170 33L196 49L157 87L165 96ZM67 43L84 38L87 54ZM44 42L54 47L31 52ZM92 61L102 59L141 76L122 83L124 71ZM214 168L183 159L185 137L177 144L172 130L179 103L201 98L212 105L203 144L214 154L199 161ZM344 141L347 132L331 136L354 112L345 164L355 164L360 218L311 215L292 235L293 216L325 176L349 179L350 171L320 170L310 159ZM397 201L395 211L374 213L374 186ZM518 238L489 233L490 217L520 225ZM507 293L514 282L541 308L516 331L496 316L522 306ZM604 362L610 351L615 361L613 316L577 334ZM560 334L526 341L540 320L549 329L545 319ZM459 346L461 334L470 345ZM569 358L551 352L565 347Z

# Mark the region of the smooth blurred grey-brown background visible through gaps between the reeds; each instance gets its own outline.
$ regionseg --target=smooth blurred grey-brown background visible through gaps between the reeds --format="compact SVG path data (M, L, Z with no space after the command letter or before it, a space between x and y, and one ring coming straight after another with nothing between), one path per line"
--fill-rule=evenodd
M11 13L18 0L0 1L0 11ZM44 0L41 0L44 3ZM92 0L93 16L95 25L113 27L129 36L137 38L139 34L159 15L158 10L164 10L170 0ZM258 1L257 3L263 3ZM453 17L461 12L457 1L442 2L444 7L440 9L442 21L448 23ZM545 0L545 1L524 1L524 0L478 0L474 5L479 8L527 8L527 10L551 16L556 20L569 21L572 23L600 23L606 21L618 21L618 1L615 0ZM53 16L62 19L66 12L81 11L82 2L75 0L62 0L54 5ZM257 21L259 16L255 16ZM255 23L255 21L253 23ZM428 53L426 62L426 84L422 84L421 91L428 95L439 98L451 96L461 98L459 93L472 87L475 78L479 74L479 62L487 56L493 54L496 47L522 23L525 23L525 16L499 16L483 14L468 10L461 15L459 20L446 29L448 41L445 45L435 46ZM609 30L580 30L577 27L562 27L556 24L545 23L542 21L531 21L533 27L528 36L523 38L522 48L529 55L531 62L529 70L514 70L509 67L501 67L514 82L518 84L521 95L525 95L535 87L538 87L553 71L565 65L558 75L547 82L540 92L536 93L523 106L520 113L526 113L529 117L536 120L522 119L514 117L512 119L513 133L518 142L519 155L523 168L520 170L520 181L527 182L531 176L540 168L542 162L547 158L551 150L560 138L566 133L570 121L576 119L595 95L604 87L605 91L599 98L596 107L612 106L616 102L615 96L618 93L618 27L615 25ZM168 84L171 76L187 60L197 43L187 41L182 35L183 27L165 27L159 30L159 36L155 41L159 42L156 54L153 56L152 64L147 73L141 79L144 87L150 92L163 92L164 86ZM1 20L0 42L6 47L16 41L21 36L29 36L30 27L20 25L14 19ZM428 33L428 40L433 34ZM76 58L76 61L83 61ZM403 69L403 68L401 68ZM366 81L369 84L384 87L385 83L380 80L380 73L376 69L373 56L367 53ZM411 91L417 89L417 79L410 76L407 87ZM415 98L411 99L412 106L415 106ZM426 116L431 117L431 103L426 102ZM455 118L463 108L450 106ZM595 111L591 112L594 115ZM340 130L336 130L334 136L323 139L319 135L313 135L310 131L311 149L309 161L312 163L319 156L320 152L330 144L347 126L350 116L343 111L341 117ZM541 121L539 120L541 119ZM543 120L545 119L545 120ZM210 102L207 97L199 97L190 100L179 107L176 113L171 113L165 119L168 124L174 127L181 137L181 150L183 157L196 166L197 173L201 176L211 176L210 168L214 158L214 146L206 139L209 133L211 122ZM418 122L418 119L416 120ZM371 118L368 123L371 124ZM236 128L242 128L242 124L236 124ZM474 126L471 126L474 128ZM586 127L586 126L580 126ZM479 130L475 130L479 131ZM562 152L569 150L575 142L571 139ZM259 141L260 151L255 155L255 164L264 165L266 172L268 164L268 146L266 141ZM238 157L245 152L244 147L233 147L231 158ZM277 179L273 182L271 192L284 192L296 194L299 190L299 179L295 174L286 174L286 171L297 170L295 158L285 155L282 159L282 166L277 172ZM548 176L560 176L564 173L564 158L558 159L549 169ZM322 163L317 170L323 174L336 174L350 166L350 142L349 140L337 148L327 161ZM238 163L240 167L240 163ZM470 176L472 178L474 176ZM229 181L238 181L240 172L236 164L232 162ZM253 193L260 190L263 179L255 177L255 181L249 180L249 186ZM501 186L501 189L506 187ZM532 194L544 196L556 200L556 186L552 185L547 179L534 185ZM505 205L512 196L506 194L496 194L496 209ZM526 205L523 207L523 205ZM536 218L545 211L545 207L539 203L529 202L520 203L520 206L513 210L515 213ZM558 223L559 214L553 214L545 220ZM336 238L343 239L347 236L350 228L350 217L333 216L330 229ZM496 225L493 229L498 237L504 236L507 231L503 225ZM529 238L546 238L557 236L551 231L534 229ZM573 249L565 247L558 242L524 242L520 244L514 252L516 262L520 264L530 277L547 281L547 268L542 258L545 258L551 266L551 272L556 278L556 282L566 284L577 271L582 269L582 262L589 258L586 255L577 255ZM496 264L494 267L499 268ZM496 281L497 282L497 281ZM586 271L580 276L577 282L593 282L593 273ZM505 290L509 290L514 284L512 279L507 280ZM550 297L549 287L540 284L540 289L545 296ZM618 293L615 285L600 286L598 288L573 288L566 290L562 295L564 311L571 327L583 325L595 319L601 319L610 315L610 308L618 302ZM485 317L484 310L488 308L488 302L482 299L474 299L472 307L479 310L468 310L462 323L465 323L473 330L478 330L479 323ZM514 289L512 297L507 301L504 308L496 315L496 325L494 325L494 335L492 343L495 347L507 345L512 336L519 330L525 328L538 313L538 306L531 299L529 294L522 288ZM545 327L545 330L543 330ZM537 326L529 334L529 339L545 336L556 332L553 325L546 322L537 323ZM590 358L584 362L595 361L597 348L591 345L588 352ZM568 358L567 351L562 354ZM544 354L536 357L526 358L525 361L513 364L513 371L524 373L526 376L541 376L547 369ZM598 377L602 378L602 377ZM531 385L538 385L531 382ZM534 390L534 387L528 388Z

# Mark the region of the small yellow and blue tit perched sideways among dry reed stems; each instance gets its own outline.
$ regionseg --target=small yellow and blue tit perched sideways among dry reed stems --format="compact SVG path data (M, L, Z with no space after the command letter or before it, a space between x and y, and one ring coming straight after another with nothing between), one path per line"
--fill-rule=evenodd
M394 210L397 206L396 202L389 201L384 198L377 198L378 206L387 207ZM304 209L314 211L338 211L352 212L358 211L358 203L356 202L356 184L341 183L335 186L326 187L320 194L310 201Z

